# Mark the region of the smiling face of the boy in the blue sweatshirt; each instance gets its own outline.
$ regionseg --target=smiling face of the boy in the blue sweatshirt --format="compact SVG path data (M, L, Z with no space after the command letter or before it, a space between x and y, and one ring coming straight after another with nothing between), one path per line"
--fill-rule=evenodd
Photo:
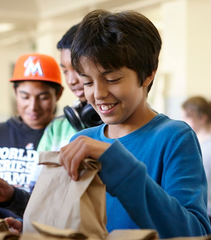
M139 86L135 71L127 67L103 69L86 57L81 58L81 66L85 96L103 122L130 128L145 118L147 88Z

